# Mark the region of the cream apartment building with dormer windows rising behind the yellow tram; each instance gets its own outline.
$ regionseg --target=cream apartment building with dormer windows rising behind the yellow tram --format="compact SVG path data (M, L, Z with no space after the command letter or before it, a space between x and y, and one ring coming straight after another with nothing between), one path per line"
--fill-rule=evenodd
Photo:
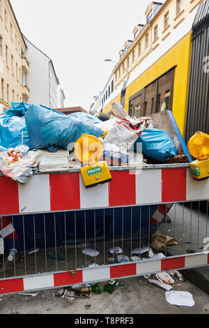
M114 67L114 88L119 87L175 31L185 18L205 0L151 1L146 9L146 24L137 24L132 40L126 40ZM119 65L120 64L120 65ZM121 67L123 66L126 70Z

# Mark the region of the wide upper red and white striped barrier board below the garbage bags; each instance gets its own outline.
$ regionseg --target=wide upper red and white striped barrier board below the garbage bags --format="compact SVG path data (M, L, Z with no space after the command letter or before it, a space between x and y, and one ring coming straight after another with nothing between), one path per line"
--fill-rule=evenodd
M131 173L111 171L109 183L89 189L79 172L35 174L25 185L0 177L0 216L209 199L209 180L195 181L189 167Z

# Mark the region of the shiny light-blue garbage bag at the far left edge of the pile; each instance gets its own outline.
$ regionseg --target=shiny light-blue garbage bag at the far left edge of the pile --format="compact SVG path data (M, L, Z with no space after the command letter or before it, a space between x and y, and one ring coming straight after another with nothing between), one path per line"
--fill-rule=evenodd
M8 115L0 116L0 144L4 149L15 148L23 143L33 149L29 141L29 135L26 128L24 117L10 117Z

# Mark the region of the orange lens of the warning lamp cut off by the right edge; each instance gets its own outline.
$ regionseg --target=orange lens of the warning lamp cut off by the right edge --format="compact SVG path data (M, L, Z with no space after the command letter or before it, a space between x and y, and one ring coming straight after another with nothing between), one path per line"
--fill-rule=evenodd
M189 139L189 153L194 157L203 161L209 157L209 135L198 131Z

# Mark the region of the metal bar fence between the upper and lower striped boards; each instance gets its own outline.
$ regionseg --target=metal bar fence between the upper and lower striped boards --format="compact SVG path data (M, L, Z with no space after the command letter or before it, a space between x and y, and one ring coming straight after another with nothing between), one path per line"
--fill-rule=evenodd
M208 208L207 201L198 201L10 216L15 231L3 239L0 279L84 269L92 264L127 264L136 260L133 256L139 261L148 259L147 247L155 258L204 253L209 250ZM3 223L1 218L1 230ZM174 243L160 244L162 235L172 237ZM122 253L110 253L115 247ZM18 253L8 261L11 248Z

